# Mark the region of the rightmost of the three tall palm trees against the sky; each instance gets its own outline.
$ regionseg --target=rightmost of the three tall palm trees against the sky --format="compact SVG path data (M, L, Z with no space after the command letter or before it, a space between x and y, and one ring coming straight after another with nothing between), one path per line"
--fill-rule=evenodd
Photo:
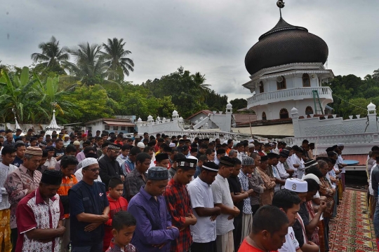
M124 80L124 74L129 76L129 71L134 71L133 60L126 57L131 51L124 50L126 42L122 43L123 41L124 38L120 40L118 38L113 38L113 40L108 38L107 44L102 43L105 50L105 52L102 52L102 55L105 56L105 63L109 66L108 78L110 80Z

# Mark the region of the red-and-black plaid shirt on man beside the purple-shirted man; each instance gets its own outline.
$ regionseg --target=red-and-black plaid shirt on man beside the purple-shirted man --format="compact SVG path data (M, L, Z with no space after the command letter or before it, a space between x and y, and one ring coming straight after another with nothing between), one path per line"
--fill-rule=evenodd
M191 200L189 199L187 188L175 182L173 179L168 181L164 193L167 209L171 214L173 226L181 230L185 225L185 217L192 214ZM171 252L189 251L192 244L191 230L187 226L180 231L179 237L171 242Z

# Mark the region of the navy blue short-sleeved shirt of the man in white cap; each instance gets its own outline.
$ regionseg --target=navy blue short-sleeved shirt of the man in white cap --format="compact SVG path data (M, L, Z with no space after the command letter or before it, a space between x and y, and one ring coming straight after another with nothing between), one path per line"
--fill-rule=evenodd
M81 213L101 215L109 206L105 184L93 182L88 185L79 181L69 190L69 224L72 246L93 246L104 238L104 224L91 232L84 231L91 223L80 222L77 215Z

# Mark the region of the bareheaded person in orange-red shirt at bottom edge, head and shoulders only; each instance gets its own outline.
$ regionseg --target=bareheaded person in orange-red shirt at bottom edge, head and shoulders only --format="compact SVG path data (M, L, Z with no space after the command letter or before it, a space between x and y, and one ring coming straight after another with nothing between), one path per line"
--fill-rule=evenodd
M286 242L289 221L279 208L270 205L260 207L253 216L253 223L251 233L242 241L239 252L278 251Z

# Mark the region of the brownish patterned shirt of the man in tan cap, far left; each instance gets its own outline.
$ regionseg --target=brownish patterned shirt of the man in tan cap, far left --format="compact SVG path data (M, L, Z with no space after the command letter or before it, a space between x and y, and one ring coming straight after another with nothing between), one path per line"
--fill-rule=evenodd
M11 228L17 228L16 208L18 202L27 195L27 190L34 190L39 187L41 177L41 172L34 171L32 174L23 165L20 165L20 168L8 174L4 187L8 193L8 200L11 203Z

